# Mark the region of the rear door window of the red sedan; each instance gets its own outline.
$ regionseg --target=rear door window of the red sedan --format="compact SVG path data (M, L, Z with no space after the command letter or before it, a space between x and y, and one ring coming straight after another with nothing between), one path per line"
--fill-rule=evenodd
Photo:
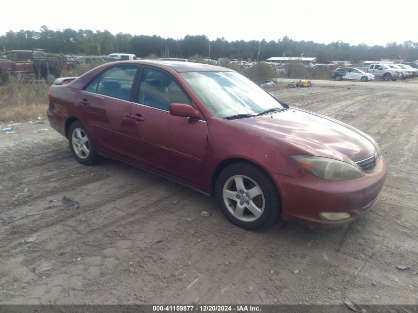
M115 66L93 80L84 90L129 101L136 66Z

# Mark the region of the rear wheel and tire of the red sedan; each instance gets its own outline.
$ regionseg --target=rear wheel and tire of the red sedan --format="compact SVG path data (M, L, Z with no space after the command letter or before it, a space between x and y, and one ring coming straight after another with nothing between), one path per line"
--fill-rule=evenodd
M93 165L100 161L101 157L94 149L92 137L80 121L71 124L68 131L68 142L74 158L83 165Z

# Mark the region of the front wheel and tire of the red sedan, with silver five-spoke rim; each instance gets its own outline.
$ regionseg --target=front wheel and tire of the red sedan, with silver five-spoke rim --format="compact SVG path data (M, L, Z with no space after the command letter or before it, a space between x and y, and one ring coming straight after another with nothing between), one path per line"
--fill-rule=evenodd
M255 165L239 162L224 169L215 198L225 217L241 228L266 228L277 220L279 193L270 176Z

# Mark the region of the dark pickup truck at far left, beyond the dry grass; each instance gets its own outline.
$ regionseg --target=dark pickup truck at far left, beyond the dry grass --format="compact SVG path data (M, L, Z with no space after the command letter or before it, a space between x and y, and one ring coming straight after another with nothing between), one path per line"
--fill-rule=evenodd
M43 50L11 50L5 53L6 58L14 62L32 61L36 77L52 81L61 76L62 70L68 68L65 58L47 54Z

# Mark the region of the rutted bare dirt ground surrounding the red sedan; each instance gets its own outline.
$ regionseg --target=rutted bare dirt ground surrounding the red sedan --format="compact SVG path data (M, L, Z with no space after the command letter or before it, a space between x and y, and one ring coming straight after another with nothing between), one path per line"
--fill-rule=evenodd
M80 165L45 119L0 123L0 303L417 304L418 78L312 82L274 93L371 134L389 168L340 228L245 231L183 185Z

